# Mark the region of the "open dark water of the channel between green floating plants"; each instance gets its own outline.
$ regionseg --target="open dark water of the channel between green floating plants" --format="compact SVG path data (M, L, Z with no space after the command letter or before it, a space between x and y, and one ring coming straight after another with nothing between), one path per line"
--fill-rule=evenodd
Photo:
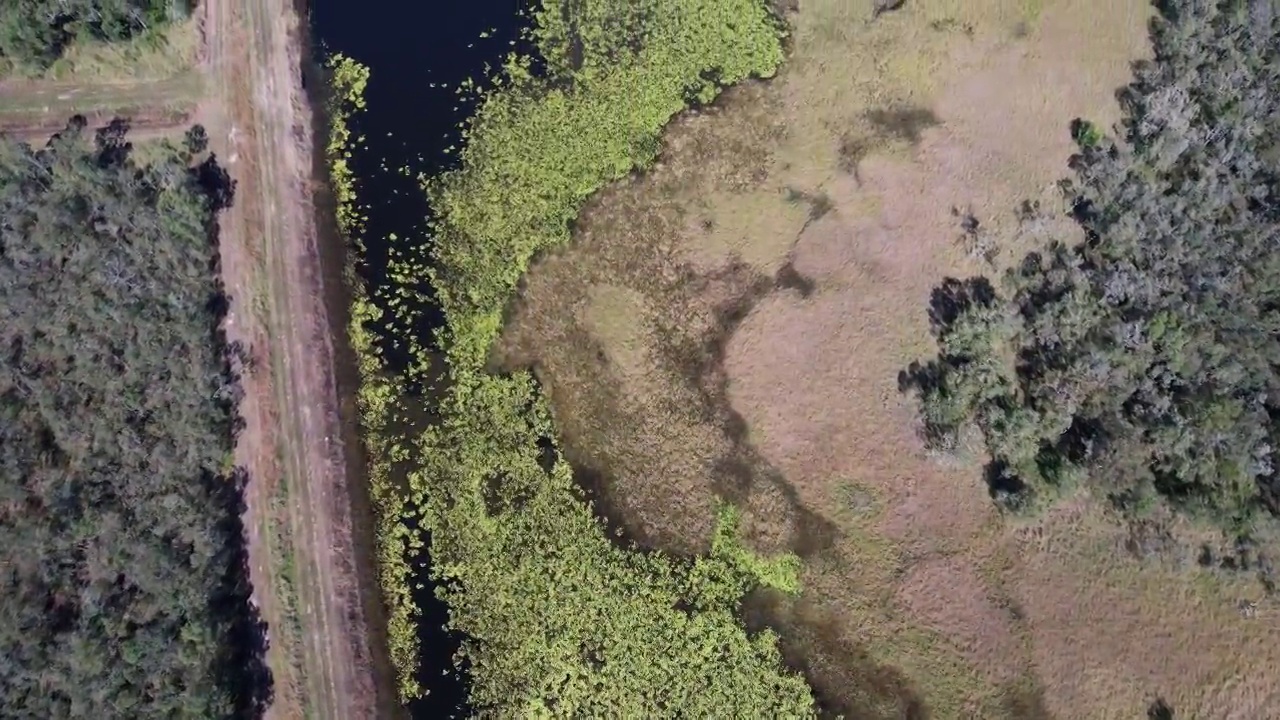
M312 0L320 53L342 53L371 73L367 109L353 127L357 136L365 136L365 146L352 164L360 200L369 206L362 273L375 295L387 278L385 238L394 233L426 242L430 208L413 176L434 174L451 164L444 149L458 142L457 127L472 110L454 88L468 77L483 77L486 63L495 67L512 50L509 42L524 27L526 5L521 0ZM490 37L480 38L486 31ZM406 167L410 177L399 173ZM422 340L431 323L439 322L435 313L426 318L425 325L415 328ZM393 363L406 360L389 356ZM424 577L426 562L429 557L415 561ZM433 720L467 715L465 679L449 673L458 639L442 629L445 609L430 587L419 591L416 600L422 610L419 680L430 693L415 703L412 715Z

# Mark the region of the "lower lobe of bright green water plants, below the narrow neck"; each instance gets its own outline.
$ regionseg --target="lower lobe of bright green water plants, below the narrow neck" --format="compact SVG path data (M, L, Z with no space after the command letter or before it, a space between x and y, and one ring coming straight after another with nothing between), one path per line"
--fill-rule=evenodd
M774 635L749 637L735 616L762 580L795 589L783 570L794 559L753 557L732 521L694 561L621 548L568 465L540 465L552 427L527 374L485 378L463 402L422 438L413 484L451 625L468 635L476 707L808 712L809 689L782 670Z

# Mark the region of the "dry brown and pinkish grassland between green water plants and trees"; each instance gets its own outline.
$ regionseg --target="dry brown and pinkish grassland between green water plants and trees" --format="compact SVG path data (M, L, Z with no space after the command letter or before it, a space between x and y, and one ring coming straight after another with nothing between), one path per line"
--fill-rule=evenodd
M864 717L1280 716L1280 614L1245 579L1140 561L1078 497L1010 523L980 459L931 456L897 374L945 277L1056 202L1073 118L1110 127L1143 0L781 3L792 56L667 132L526 277L494 364L534 366L566 452L639 542L705 547L713 501L805 592L750 602ZM1006 247L1001 260L1025 249Z

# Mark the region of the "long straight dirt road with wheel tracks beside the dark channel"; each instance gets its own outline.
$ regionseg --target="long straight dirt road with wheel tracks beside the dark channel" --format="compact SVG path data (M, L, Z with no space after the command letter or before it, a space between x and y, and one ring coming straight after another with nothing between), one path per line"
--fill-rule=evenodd
M311 111L288 0L207 0L198 118L237 181L223 218L230 340L251 347L237 461L255 598L271 633L271 717L378 716L353 565L334 348L312 210Z

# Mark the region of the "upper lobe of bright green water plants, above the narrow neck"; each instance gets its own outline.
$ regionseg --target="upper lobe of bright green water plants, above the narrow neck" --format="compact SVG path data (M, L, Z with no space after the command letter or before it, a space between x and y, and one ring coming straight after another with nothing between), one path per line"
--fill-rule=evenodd
M618 13L623 4L580 5ZM529 76L526 60L509 61L508 79L465 131L462 169L428 182L440 218L431 279L456 372L483 366L529 260L568 242L570 222L591 193L654 159L672 115L689 100L714 99L721 83L772 76L782 60L781 31L758 0L640 5L648 13L639 51L625 49L612 63L608 51L589 55L582 69L543 81ZM558 4L545 5L535 36L567 33L563 17ZM576 23L579 36L600 35L594 17ZM556 50L544 46L552 58Z

